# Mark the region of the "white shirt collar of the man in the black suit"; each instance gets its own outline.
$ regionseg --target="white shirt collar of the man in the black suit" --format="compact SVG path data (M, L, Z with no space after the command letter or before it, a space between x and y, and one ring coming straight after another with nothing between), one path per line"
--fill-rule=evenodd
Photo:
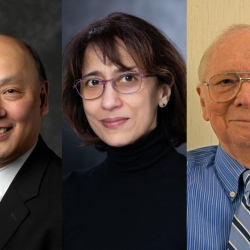
M28 157L32 153L36 144L37 142L30 150L28 150L25 154L23 154L21 157L19 157L15 161L11 162L5 167L0 168L0 201L2 200L6 191L8 190L16 174L18 173L20 168L23 166L24 162L28 159Z

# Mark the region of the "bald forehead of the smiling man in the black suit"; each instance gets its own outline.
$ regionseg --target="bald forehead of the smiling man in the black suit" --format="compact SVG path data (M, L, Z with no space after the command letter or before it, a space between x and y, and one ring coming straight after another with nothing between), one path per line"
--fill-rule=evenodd
M36 64L25 45L13 38L0 36L0 80L36 73Z

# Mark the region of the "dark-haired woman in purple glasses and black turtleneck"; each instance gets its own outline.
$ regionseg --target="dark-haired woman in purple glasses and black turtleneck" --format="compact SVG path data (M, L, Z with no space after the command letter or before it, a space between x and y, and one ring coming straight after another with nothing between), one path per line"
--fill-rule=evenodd
M112 13L64 53L63 108L101 164L64 177L63 249L186 249L185 65L146 21ZM72 89L72 83L73 89Z

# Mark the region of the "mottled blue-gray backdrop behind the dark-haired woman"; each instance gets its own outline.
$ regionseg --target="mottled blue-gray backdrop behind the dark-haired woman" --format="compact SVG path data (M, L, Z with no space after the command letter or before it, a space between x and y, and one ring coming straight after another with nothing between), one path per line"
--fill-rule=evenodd
M162 30L186 58L186 0L62 0L62 46L90 22L114 11L130 13ZM82 140L63 119L63 174L91 167L105 158L91 147L77 147ZM185 154L186 145L180 151Z

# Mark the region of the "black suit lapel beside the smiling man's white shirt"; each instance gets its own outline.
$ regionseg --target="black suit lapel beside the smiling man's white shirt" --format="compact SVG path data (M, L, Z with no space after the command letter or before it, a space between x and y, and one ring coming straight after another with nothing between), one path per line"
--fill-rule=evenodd
M0 202L0 249L28 218L30 211L25 202L39 195L40 184L50 156L50 149L39 136L36 147Z

